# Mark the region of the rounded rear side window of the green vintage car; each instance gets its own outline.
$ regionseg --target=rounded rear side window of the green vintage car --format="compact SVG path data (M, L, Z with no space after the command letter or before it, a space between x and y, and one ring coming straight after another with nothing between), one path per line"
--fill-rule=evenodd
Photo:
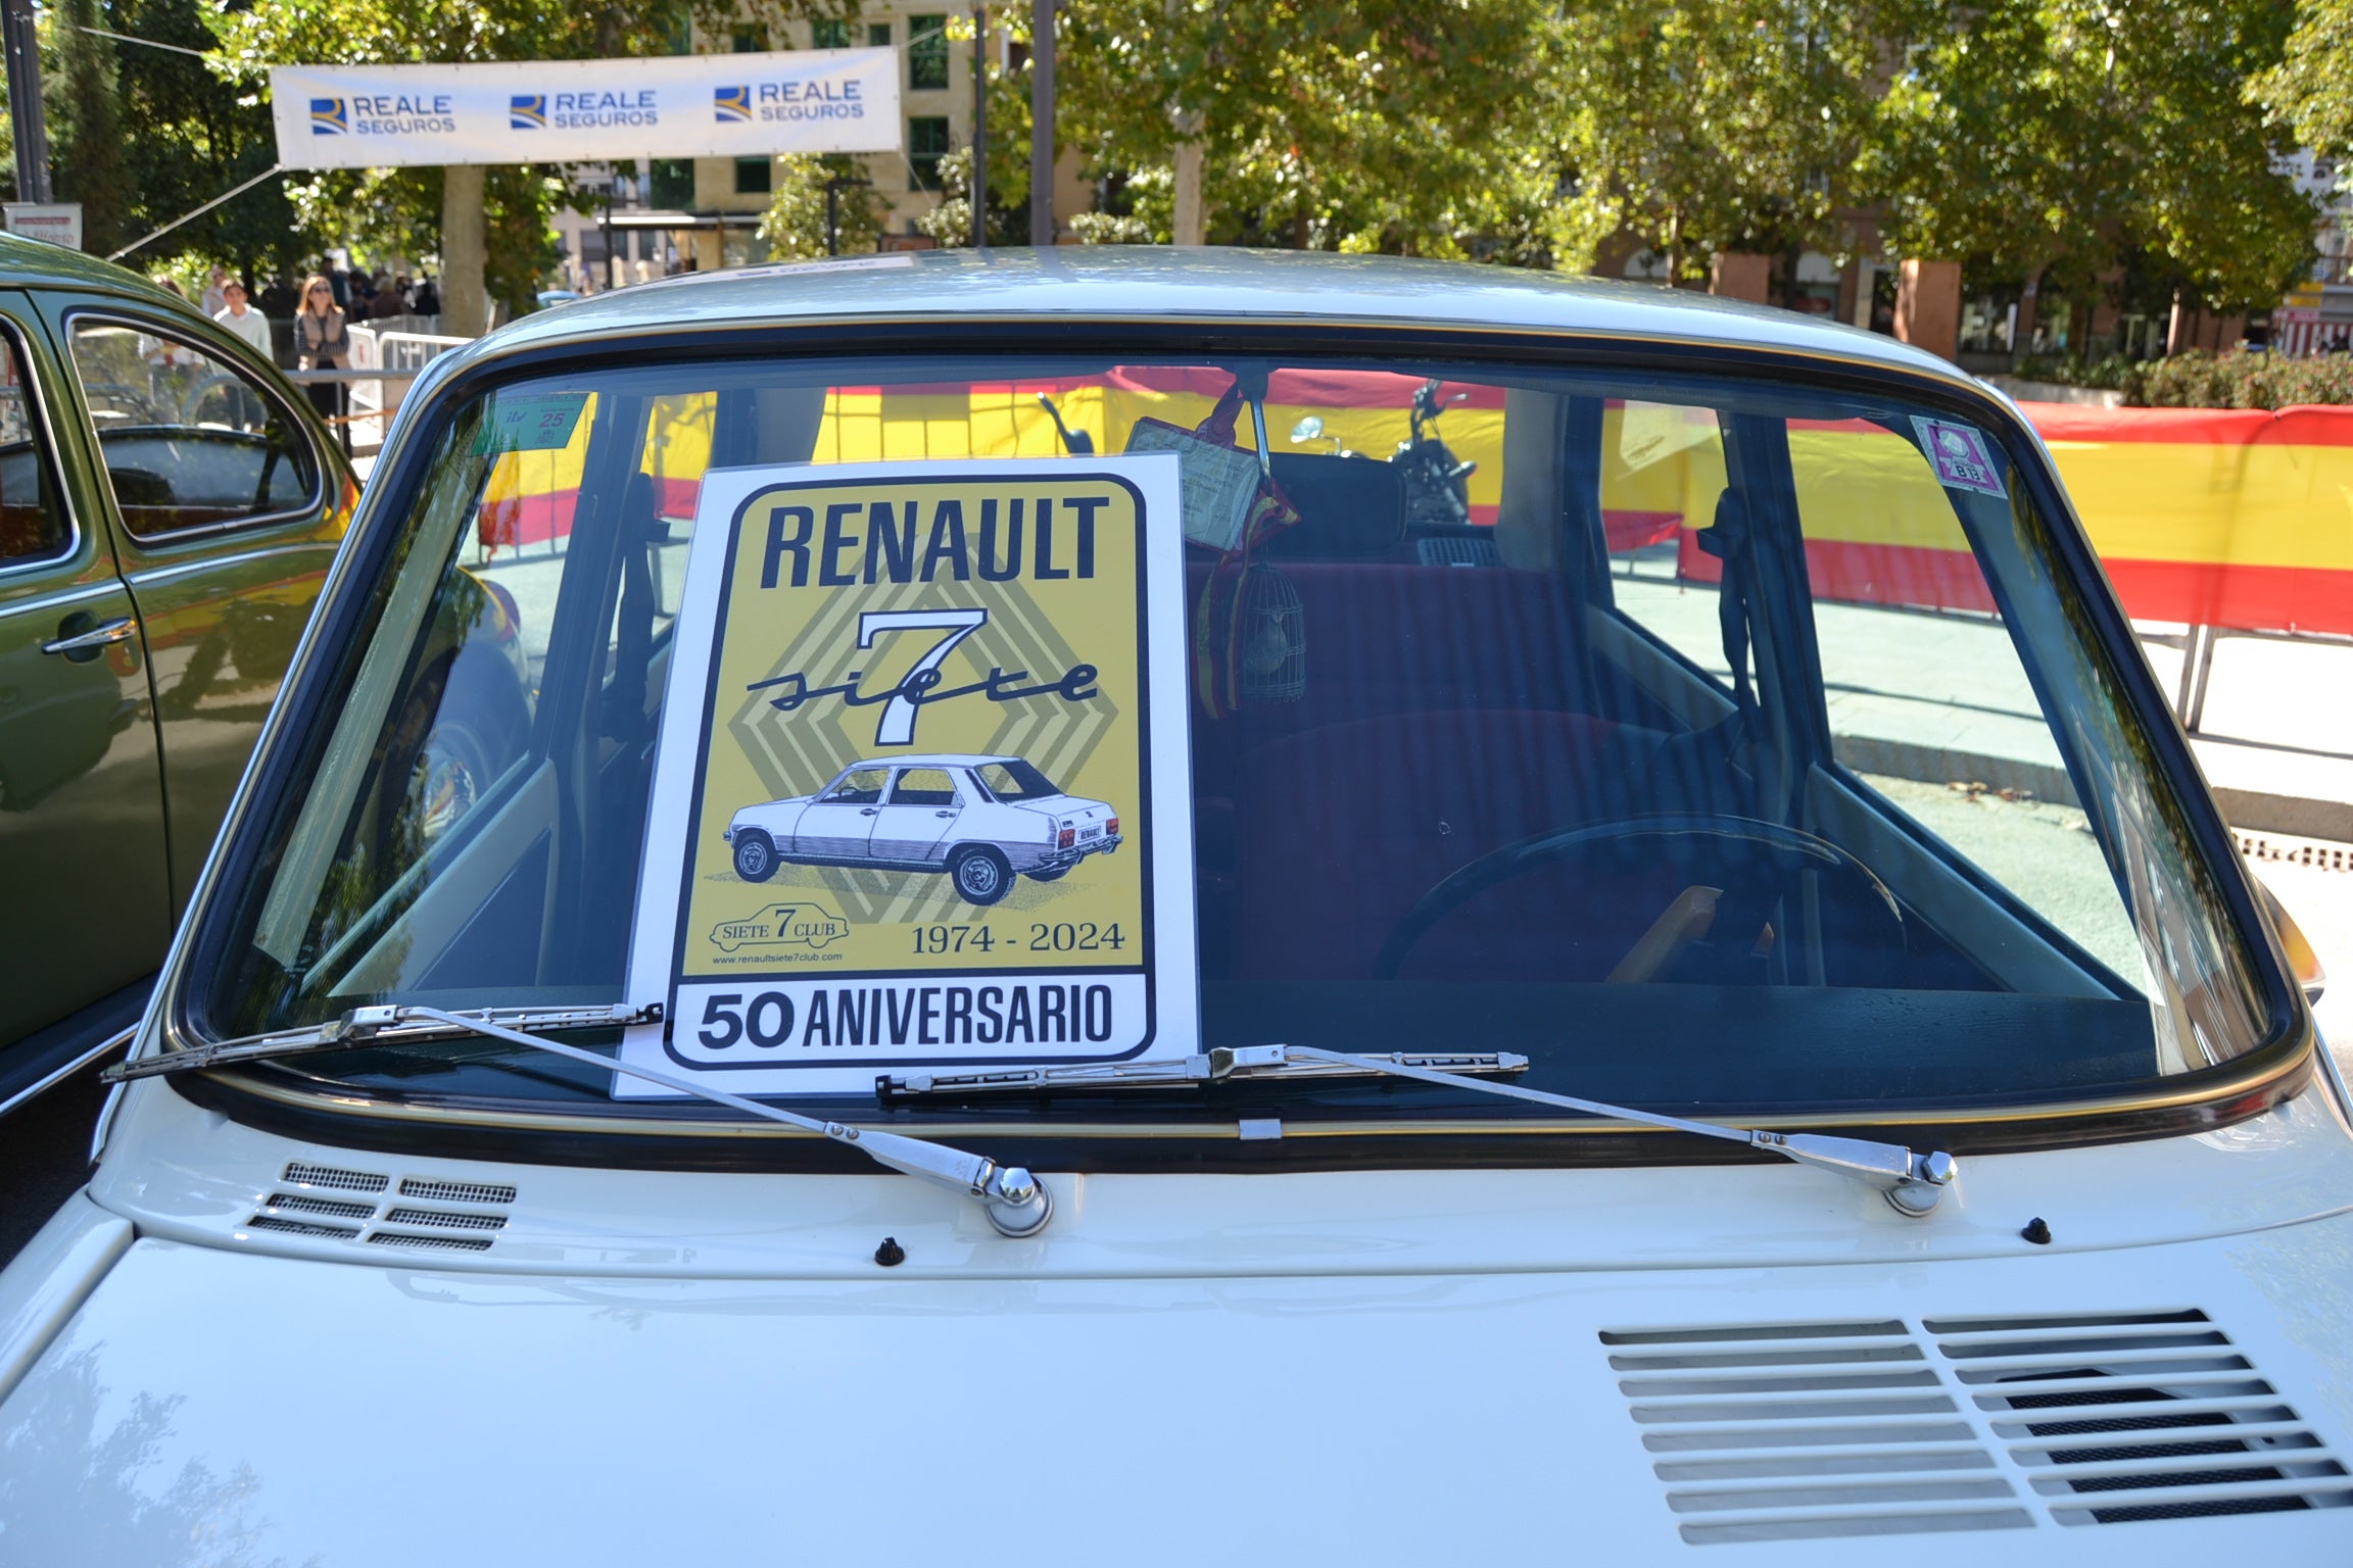
M75 322L73 369L134 538L275 517L318 496L318 458L294 416L202 348L162 329Z

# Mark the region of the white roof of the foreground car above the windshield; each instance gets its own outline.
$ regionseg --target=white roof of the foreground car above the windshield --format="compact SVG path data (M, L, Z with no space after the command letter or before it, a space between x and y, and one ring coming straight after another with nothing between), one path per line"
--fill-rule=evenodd
M1169 244L892 252L687 273L525 315L449 357L694 329L1007 317L1631 336L1798 350L1974 386L1946 360L1894 339L1689 289L1464 261Z

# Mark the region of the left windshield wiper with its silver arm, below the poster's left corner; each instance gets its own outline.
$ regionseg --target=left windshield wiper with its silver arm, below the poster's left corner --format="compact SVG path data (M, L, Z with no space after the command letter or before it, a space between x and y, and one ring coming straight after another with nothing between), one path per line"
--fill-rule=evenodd
M546 1051L551 1056L562 1056L574 1063L586 1063L591 1067L605 1067L609 1072L626 1072L633 1079L645 1079L647 1084L661 1084L664 1088L675 1088L678 1093L696 1095L711 1100L713 1105L725 1105L729 1110L744 1112L746 1117L760 1117L765 1121L781 1121L784 1126L795 1126L805 1133L816 1133L831 1138L833 1143L845 1143L859 1150L875 1164L889 1166L906 1175L922 1178L934 1187L946 1187L960 1192L976 1201L986 1213L988 1222L998 1227L1005 1237L1035 1237L1054 1218L1054 1194L1047 1192L1045 1182L1024 1171L1021 1166L1000 1166L986 1154L967 1154L965 1150L953 1150L944 1143L932 1143L929 1138L908 1138L904 1133L885 1133L878 1128L849 1126L847 1121L826 1121L821 1117L802 1117L798 1112L781 1110L776 1105L760 1105L758 1100L746 1100L744 1095L732 1095L725 1088L711 1088L692 1077L668 1072L664 1067L640 1067L635 1063L619 1063L609 1056L598 1056L595 1051L584 1051L579 1046L567 1046L555 1039L539 1039L525 1030L584 1030L584 1027L609 1027L631 1023L659 1023L661 1009L508 1009L508 1011L482 1011L482 1013L445 1013L438 1006L358 1006L334 1018L315 1030L287 1030L280 1034L256 1034L249 1039L226 1039L207 1046L191 1046L186 1051L167 1051L162 1056L141 1056L139 1060L118 1063L108 1067L101 1077L120 1084L122 1079L144 1079L162 1072L195 1072L198 1067L226 1067L233 1063L256 1063L275 1060L285 1056L304 1056L308 1051L348 1051L355 1046L402 1046L419 1044L426 1039L449 1039L459 1034L480 1034L485 1039L499 1039L511 1046L527 1046L532 1051Z

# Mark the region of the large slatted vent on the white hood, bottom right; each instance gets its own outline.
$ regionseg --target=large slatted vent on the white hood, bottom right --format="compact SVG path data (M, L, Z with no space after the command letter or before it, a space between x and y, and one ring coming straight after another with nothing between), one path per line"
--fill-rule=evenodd
M1600 1338L1692 1544L2353 1507L2193 1309Z

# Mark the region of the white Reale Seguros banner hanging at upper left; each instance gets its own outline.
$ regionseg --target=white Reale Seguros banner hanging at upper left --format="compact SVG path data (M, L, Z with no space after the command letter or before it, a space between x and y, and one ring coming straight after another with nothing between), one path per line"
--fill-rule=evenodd
M289 169L892 153L899 54L271 66L271 115Z

